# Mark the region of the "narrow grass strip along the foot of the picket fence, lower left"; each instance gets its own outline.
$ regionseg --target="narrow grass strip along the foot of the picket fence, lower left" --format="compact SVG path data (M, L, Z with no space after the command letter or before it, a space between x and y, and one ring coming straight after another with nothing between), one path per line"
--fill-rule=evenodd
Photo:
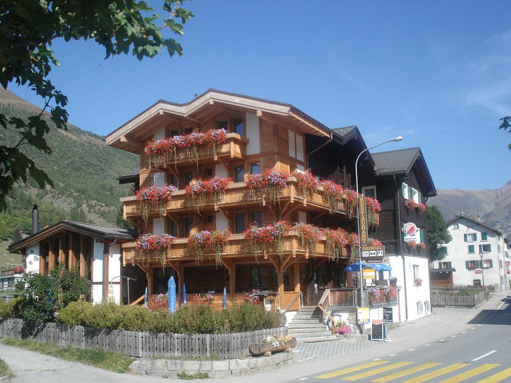
M17 340L13 338L5 338L2 340L2 343L118 373L128 371L129 365L133 362L127 355L100 349L85 350L75 347L62 347L50 343L39 343L29 339Z

